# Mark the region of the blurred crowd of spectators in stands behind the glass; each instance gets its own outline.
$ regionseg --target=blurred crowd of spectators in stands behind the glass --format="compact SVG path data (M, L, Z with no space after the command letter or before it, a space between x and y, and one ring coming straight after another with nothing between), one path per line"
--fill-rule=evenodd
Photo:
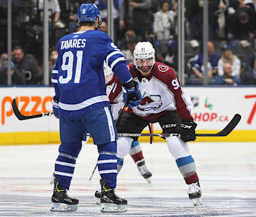
M107 33L107 0L48 0L50 60L58 56L58 40L78 31L77 9L82 3L94 3L101 11ZM0 28L7 25L6 2L0 1ZM43 0L15 0L13 11L13 85L43 84ZM133 62L138 41L150 41L156 49L156 61L178 70L178 0L113 0L114 41ZM256 85L256 0L208 0L209 42L207 72L203 61L204 0L185 0L186 84L202 85L204 74L209 85ZM22 9L22 10L19 10ZM26 9L26 10L25 10ZM4 12L5 11L5 12ZM2 12L2 13L1 13ZM0 31L1 32L1 31ZM6 31L5 31L6 33ZM1 35L3 34L3 31ZM0 85L7 84L7 38L0 39ZM177 73L178 75L178 73ZM50 76L51 77L51 76Z

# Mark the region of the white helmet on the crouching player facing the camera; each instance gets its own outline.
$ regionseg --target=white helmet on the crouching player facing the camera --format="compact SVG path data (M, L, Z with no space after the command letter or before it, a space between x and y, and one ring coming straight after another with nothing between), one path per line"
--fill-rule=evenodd
M149 41L142 41L139 42L133 51L133 63L136 68L139 70L138 67L141 65L138 64L139 59L152 59L148 66L153 66L155 64L155 49L153 45Z

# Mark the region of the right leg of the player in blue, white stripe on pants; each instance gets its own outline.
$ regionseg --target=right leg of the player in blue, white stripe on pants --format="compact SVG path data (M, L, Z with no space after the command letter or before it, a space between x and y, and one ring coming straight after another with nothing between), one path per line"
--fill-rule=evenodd
M115 193L117 133L109 107L90 112L85 124L99 152L97 164L101 176L101 212L125 212L127 211L127 201Z

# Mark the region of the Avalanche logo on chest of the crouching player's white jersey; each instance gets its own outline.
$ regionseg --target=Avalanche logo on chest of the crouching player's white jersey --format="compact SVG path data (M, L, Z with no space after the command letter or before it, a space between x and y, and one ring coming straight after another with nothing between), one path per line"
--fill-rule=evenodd
M160 95L149 95L146 92L142 96L142 101L137 108L140 111L158 110L163 104Z

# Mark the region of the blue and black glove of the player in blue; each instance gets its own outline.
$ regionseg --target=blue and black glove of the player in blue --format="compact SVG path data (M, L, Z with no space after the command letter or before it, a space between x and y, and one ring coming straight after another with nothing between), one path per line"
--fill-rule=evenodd
M141 103L142 96L138 82L132 80L123 84L123 93L125 107L131 108Z

